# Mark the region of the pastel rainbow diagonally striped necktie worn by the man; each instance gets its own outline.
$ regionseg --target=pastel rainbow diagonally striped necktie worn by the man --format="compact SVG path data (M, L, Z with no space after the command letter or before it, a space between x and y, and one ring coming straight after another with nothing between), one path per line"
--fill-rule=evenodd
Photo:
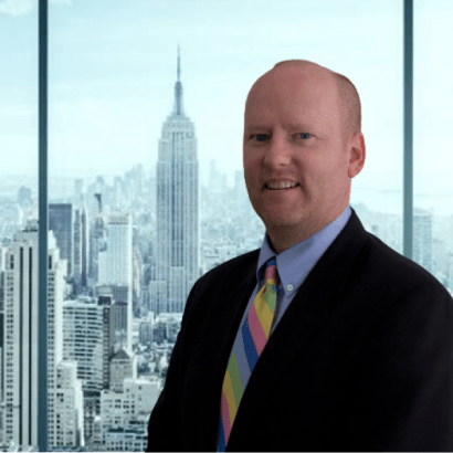
M277 303L280 278L275 257L266 263L265 282L256 294L234 341L222 386L218 453L223 453L230 438L250 375L267 343Z

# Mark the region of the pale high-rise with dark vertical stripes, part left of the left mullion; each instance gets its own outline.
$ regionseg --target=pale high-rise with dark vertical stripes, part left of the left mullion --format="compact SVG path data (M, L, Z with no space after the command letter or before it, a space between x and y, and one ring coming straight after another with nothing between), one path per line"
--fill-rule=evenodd
M38 444L38 229L17 233L7 255L4 441Z

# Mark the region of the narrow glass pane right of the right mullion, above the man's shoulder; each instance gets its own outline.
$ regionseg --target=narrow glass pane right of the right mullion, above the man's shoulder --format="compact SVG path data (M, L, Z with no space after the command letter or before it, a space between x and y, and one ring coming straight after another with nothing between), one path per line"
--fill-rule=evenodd
M453 292L453 3L414 1L413 260Z

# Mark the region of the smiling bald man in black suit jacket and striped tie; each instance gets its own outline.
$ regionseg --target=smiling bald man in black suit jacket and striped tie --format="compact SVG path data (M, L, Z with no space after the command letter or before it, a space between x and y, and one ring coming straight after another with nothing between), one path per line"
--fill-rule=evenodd
M453 299L348 206L360 116L354 85L310 62L252 86L265 240L194 284L148 453L453 452Z

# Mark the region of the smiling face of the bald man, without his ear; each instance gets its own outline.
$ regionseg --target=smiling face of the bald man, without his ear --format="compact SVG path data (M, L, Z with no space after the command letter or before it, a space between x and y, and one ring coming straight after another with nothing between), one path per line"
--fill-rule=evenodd
M302 228L314 234L341 214L349 202L350 156L329 73L273 69L250 91L244 119L245 183L268 232Z

